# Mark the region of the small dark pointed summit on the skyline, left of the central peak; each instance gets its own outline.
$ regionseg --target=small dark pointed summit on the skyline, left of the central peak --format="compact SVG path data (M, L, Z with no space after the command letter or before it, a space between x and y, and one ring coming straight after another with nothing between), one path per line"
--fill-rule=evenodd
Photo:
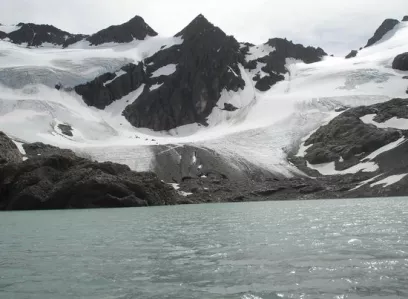
M156 36L149 25L145 23L143 18L136 16L130 21L103 29L87 38L92 45L100 45L105 43L128 43L134 39L144 40L147 36Z

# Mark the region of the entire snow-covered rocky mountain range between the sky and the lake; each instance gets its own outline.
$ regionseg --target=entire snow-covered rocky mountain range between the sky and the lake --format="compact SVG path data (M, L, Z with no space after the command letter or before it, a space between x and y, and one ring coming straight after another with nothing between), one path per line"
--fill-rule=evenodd
M172 37L139 17L30 41L1 25L0 209L165 204L166 186L169 204L406 195L408 23L392 23L348 59L202 15Z

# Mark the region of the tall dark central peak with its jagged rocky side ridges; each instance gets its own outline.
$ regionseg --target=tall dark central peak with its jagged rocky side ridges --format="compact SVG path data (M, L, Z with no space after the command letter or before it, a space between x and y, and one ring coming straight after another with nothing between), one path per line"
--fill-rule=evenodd
M253 84L243 79L244 68L254 71L255 87L267 91L284 80L286 58L313 63L327 55L320 48L305 48L286 39L269 40L260 47L270 51L258 54L256 46L240 45L203 15L197 16L175 37L183 42L161 49L138 66L128 65L126 68L132 69L131 72L122 69L121 76L103 74L75 90L88 105L104 109L145 84L138 100L123 113L133 126L155 131L192 123L206 126L223 91L243 91L246 84ZM119 93L118 86L123 87ZM222 104L233 106L233 103Z

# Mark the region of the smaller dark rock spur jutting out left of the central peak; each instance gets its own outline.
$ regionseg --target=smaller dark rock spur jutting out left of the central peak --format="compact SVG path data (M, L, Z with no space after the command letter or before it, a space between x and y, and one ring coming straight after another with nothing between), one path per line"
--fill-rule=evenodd
M75 91L82 96L88 106L104 109L138 89L146 81L143 63L128 64L121 70L125 73L120 76L106 73L91 82L76 86Z

